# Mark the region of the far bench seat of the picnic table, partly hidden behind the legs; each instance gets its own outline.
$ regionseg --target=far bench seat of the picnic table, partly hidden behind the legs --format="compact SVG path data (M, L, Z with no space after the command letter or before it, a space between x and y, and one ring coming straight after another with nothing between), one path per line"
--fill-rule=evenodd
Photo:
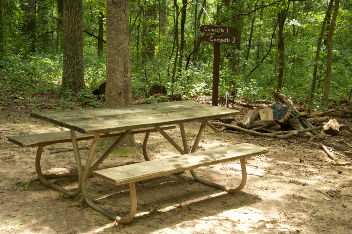
M175 125L166 125L161 126L163 130L166 129L174 129ZM130 134L138 134L145 132L157 132L154 127L150 128L139 128L134 129ZM116 137L120 136L124 133L124 131L119 132L111 132L109 134L101 134L100 138L106 137ZM76 132L77 141L81 140L91 140L94 138L94 134L85 135L83 133ZM14 137L9 137L8 141L22 146L22 147L33 147L39 145L52 145L58 143L71 142L71 134L70 131L62 131L62 132L47 132L47 133L38 133L38 134L27 134L27 135L19 135Z

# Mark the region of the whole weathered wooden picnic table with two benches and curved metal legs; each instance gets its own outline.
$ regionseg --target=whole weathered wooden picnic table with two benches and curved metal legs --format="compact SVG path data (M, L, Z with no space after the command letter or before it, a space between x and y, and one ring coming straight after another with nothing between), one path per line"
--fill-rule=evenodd
M266 153L268 152L266 148L244 143L196 152L208 120L237 114L239 114L238 110L209 106L189 101L31 113L31 117L33 118L48 121L52 124L70 129L70 139L65 140L72 141L74 148L79 182L78 188L75 191L68 191L58 185L54 185L46 181L42 175L40 169L42 148L44 144L52 144L55 142L55 135L51 135L53 138L52 140L46 141L39 140L40 136L37 136L35 139L30 136L27 136L27 138L25 138L25 136L17 136L11 137L8 140L21 146L38 146L36 170L38 176L41 178L40 180L45 185L60 192L64 192L69 196L76 196L82 192L84 200L94 210L99 211L120 223L128 223L133 219L137 210L137 196L134 185L134 182L136 181L190 170L191 175L201 183L214 186L227 192L240 191L246 183L245 158ZM201 124L197 137L193 143L193 147L189 152L184 123L193 121L199 121ZM180 126L182 147L164 131L165 129L170 129L170 126L176 124ZM160 132L163 137L165 137L166 140L168 140L169 143L180 152L181 156L150 160L146 152L146 144L150 132L152 131ZM146 159L145 162L96 170L103 160L121 143L122 139L128 134L139 132L146 133L143 142L143 154ZM99 139L113 134L119 135L119 138L110 148L108 148L101 158L93 164L93 157ZM84 138L85 136L86 138ZM69 137L66 136L66 138ZM77 141L82 139L93 139L84 170L81 163L80 150L78 149L77 144ZM59 140L64 142L63 139ZM195 168L200 166L226 162L234 159L240 160L242 169L242 181L237 188L227 188L212 181L207 181L197 176L194 171ZM129 184L131 195L130 214L126 217L119 217L95 204L90 199L87 190L87 178L92 174L95 177L101 178L115 185Z

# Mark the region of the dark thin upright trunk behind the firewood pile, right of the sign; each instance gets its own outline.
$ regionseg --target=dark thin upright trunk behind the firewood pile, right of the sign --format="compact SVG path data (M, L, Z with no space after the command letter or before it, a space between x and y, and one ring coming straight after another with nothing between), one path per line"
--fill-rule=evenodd
M285 7L278 14L278 18L279 18L279 20L278 20L278 25L279 25L279 31L278 31L279 73L278 73L278 79L277 79L277 91L278 92L280 92L282 90L282 80L283 80L284 68L285 68L285 42L284 42L284 36L283 36L283 29L284 29L284 25L285 25L285 19L286 19L288 8L289 8L289 6Z

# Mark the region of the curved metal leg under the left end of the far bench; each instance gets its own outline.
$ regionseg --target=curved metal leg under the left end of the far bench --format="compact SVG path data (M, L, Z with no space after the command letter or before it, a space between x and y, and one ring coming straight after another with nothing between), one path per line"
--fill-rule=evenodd
M54 189L59 192L63 192L64 194L66 194L70 197L74 197L74 196L77 196L78 194L80 194L81 193L81 184L80 183L78 183L78 188L75 191L70 191L70 190L62 188L61 186L53 184L45 179L45 177L43 176L43 173L42 173L42 168L40 166L40 159L42 158L42 150L43 150L43 145L38 146L37 155L36 155L36 172L37 172L37 175L38 175L40 182L42 182L44 185L48 186L49 188ZM79 162L81 162L81 160L79 160ZM78 179L80 179L81 175L82 175L82 172L81 172L82 166L81 166L81 170L78 168L77 168L77 170L78 170Z

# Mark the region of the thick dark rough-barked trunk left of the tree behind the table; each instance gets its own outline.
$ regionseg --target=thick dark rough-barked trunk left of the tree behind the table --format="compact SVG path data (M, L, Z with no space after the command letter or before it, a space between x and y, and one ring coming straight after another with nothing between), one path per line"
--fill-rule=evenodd
M64 0L62 88L78 91L84 86L82 1Z

